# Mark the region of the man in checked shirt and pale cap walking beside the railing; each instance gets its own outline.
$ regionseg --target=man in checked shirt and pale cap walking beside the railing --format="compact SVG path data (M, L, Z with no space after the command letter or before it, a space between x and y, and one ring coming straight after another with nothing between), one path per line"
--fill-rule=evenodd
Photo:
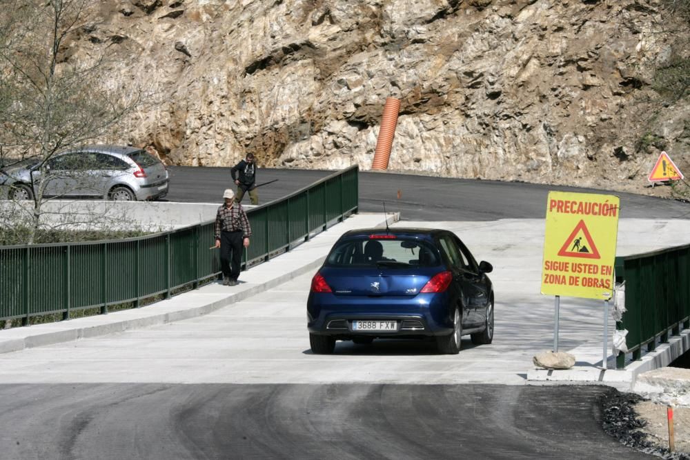
M249 247L252 228L242 205L235 203L235 192L229 188L224 192L225 204L218 208L215 221L216 248L220 248L220 263L223 270L223 284L237 286L237 277L242 268L242 247Z

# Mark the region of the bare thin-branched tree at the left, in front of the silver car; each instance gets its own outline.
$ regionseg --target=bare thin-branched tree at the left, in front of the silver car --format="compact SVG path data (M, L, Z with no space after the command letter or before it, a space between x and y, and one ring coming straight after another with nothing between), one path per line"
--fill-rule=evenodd
M103 137L144 102L139 88L103 84L101 48L75 59L70 45L90 30L95 0L5 0L0 8L0 163L33 158L33 206L25 243L41 226L50 159ZM80 43L88 47L89 43ZM107 49L107 48L106 48Z

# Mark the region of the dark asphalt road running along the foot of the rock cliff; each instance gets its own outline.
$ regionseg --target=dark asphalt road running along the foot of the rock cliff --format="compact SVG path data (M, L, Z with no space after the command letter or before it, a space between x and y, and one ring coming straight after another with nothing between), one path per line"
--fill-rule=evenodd
M284 197L332 173L260 168L257 183L278 181L259 188L259 203ZM235 188L230 168L170 167L170 192L166 199L220 203L223 190L230 186ZM383 212L385 202L388 212L399 211L400 218L408 221L543 219L549 190L616 194L621 199L620 217L625 219L690 219L687 203L631 193L388 172L359 173L359 210ZM248 202L246 197L244 203Z

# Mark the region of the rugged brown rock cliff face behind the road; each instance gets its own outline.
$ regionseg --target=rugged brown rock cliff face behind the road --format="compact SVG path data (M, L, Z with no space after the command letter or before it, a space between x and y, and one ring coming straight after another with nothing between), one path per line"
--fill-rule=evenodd
M170 164L367 170L397 97L391 170L644 193L661 150L690 175L690 101L652 89L690 53L662 3L101 1L70 49L146 82L109 140Z

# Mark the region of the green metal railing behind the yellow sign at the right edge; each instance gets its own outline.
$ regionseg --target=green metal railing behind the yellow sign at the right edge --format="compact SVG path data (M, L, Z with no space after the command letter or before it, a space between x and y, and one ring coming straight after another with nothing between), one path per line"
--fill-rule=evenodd
M615 258L616 283L625 283L625 309L617 330L628 330L632 359L690 328L690 245ZM619 352L616 368L626 364Z

